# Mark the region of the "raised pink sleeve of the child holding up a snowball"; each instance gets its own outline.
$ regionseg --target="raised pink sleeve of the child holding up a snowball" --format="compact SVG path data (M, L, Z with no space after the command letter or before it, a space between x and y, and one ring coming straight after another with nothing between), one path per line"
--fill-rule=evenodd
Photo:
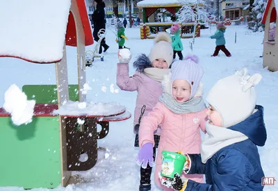
M137 90L136 78L129 77L129 63L117 63L117 86L129 92Z

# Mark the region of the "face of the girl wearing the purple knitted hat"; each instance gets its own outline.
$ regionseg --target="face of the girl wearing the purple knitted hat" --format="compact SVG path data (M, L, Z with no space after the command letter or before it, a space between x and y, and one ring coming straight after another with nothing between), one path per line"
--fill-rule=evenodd
M190 84L183 79L176 79L172 84L172 96L179 103L183 103L189 100L191 94Z

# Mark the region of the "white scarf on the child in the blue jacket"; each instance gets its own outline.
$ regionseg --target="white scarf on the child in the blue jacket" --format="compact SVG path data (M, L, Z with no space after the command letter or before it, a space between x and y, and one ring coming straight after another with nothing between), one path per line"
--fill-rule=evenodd
M206 135L201 144L202 163L206 163L220 149L247 139L247 136L239 131L206 122Z

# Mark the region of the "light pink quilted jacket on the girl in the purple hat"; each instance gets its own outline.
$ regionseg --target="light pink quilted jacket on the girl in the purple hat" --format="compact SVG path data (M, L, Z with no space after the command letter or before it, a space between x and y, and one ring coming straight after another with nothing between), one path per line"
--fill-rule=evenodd
M163 190L171 190L161 185L158 174L161 172L162 153L161 151L182 151L183 153L200 153L201 134L200 128L206 133L206 108L198 113L175 114L172 113L160 101L146 117L142 117L139 131L139 146L147 142L154 144L154 132L161 124L161 140L158 145L156 156L156 171L154 179L156 185ZM203 183L202 174L183 174L199 183Z

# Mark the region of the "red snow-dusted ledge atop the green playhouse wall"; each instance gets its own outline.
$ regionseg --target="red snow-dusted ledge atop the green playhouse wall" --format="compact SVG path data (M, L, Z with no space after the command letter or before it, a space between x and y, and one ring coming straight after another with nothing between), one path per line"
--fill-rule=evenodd
M34 108L33 117L54 117L54 110L58 110L57 104L41 104L36 103ZM7 113L4 108L0 108L0 117L10 117L10 113Z

